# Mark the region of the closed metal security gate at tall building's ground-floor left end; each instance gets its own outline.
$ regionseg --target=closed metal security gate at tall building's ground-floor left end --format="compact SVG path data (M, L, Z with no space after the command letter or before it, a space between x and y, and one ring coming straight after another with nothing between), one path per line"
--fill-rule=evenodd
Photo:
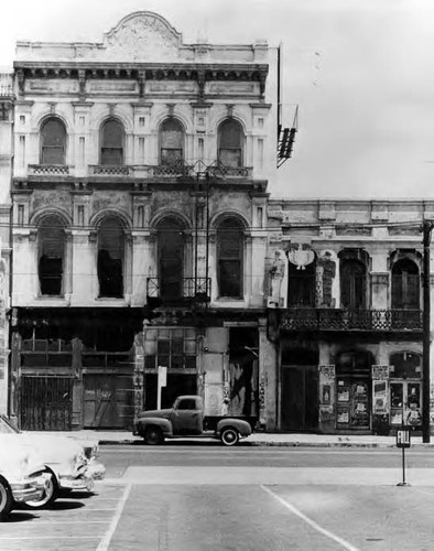
M72 412L70 377L21 377L20 425L23 431L69 431Z

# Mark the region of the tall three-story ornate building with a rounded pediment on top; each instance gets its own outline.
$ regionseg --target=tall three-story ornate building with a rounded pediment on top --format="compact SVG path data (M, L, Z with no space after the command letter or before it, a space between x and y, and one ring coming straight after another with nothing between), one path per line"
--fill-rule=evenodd
M18 43L10 413L23 429L131 428L186 392L265 423L276 60L264 42L184 44L151 12L101 43Z

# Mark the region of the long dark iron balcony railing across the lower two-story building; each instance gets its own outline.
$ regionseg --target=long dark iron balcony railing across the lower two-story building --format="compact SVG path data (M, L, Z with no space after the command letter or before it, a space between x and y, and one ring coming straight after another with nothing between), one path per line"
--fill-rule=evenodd
M422 331L421 310L291 307L280 311L282 331Z

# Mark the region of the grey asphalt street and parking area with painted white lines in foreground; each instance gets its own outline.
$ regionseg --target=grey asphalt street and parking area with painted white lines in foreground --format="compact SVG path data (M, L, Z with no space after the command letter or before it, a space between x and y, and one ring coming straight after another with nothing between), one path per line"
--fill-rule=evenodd
M0 525L0 550L434 549L431 450L101 450L107 479ZM398 463L398 464L397 464Z

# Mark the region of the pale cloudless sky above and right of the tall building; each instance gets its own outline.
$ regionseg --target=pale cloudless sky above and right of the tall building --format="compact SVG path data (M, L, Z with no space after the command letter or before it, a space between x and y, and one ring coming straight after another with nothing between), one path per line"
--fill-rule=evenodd
M283 43L283 101L300 125L273 196L434 199L433 0L14 0L0 66L17 40L99 42L139 10L186 43Z

